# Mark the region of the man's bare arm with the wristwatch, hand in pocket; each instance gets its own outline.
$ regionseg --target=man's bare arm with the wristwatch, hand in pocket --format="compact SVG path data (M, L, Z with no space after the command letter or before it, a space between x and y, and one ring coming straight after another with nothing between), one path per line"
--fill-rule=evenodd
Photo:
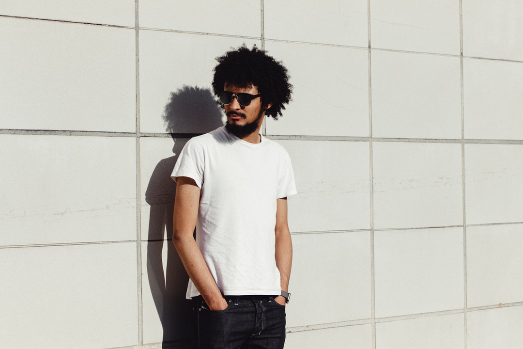
M280 271L280 284L283 291L289 291L289 278L292 266L292 241L287 223L287 198L276 200L276 266ZM285 305L285 298L278 296L275 299L281 305Z

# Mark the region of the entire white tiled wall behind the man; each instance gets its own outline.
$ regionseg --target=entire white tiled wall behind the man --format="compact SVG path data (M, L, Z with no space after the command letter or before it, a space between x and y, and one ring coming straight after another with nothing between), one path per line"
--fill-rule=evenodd
M523 5L4 0L0 347L189 348L169 178L215 57L288 68L286 348L523 345ZM167 133L176 133L172 138Z

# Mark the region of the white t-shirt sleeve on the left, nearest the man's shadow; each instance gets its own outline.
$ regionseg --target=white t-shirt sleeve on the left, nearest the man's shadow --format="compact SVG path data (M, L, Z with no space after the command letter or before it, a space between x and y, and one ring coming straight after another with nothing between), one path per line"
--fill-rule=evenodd
M178 160L174 165L171 178L176 182L178 177L189 177L195 180L198 187L203 185L204 154L203 148L198 140L192 138L181 150Z

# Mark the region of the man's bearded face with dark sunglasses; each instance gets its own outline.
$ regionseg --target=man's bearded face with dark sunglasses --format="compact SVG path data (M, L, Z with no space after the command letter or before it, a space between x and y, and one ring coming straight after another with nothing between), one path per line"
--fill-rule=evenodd
M232 92L233 94L258 94L258 88L256 86L238 87L237 85L229 83L225 83L223 91ZM261 98L256 97L251 100L251 104L248 106L241 106L240 103L238 103L238 99L233 97L231 104L224 105L223 107L225 108L225 115L227 116L225 127L236 137L244 138L253 133L258 134L265 115L265 109L269 108L270 105L263 107L261 105Z

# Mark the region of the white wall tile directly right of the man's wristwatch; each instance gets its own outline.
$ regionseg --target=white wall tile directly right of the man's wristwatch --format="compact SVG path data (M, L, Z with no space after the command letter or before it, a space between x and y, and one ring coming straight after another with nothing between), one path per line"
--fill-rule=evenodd
M287 327L370 318L368 231L293 234L292 244Z

